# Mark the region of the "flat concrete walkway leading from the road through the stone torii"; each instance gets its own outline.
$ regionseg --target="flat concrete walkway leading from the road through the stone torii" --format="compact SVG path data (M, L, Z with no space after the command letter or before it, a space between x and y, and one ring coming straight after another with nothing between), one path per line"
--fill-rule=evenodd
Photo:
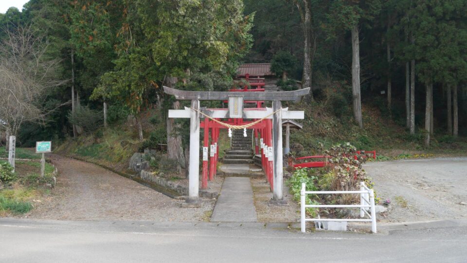
M253 190L248 177L226 177L211 222L256 222Z

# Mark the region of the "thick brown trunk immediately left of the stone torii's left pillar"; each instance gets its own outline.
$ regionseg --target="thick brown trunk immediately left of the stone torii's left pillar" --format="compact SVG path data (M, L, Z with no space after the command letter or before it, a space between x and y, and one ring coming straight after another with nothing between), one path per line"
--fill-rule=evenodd
M175 83L177 83L176 77L167 77L166 84L168 87L174 87ZM180 101L175 101L173 103L173 108L175 110L180 109ZM180 130L180 125L175 124L174 119L170 119L167 117L166 120L166 128L167 128L167 157L169 159L177 160L179 165L183 168L185 166L185 155L183 152L183 146L181 141L181 136L177 133Z

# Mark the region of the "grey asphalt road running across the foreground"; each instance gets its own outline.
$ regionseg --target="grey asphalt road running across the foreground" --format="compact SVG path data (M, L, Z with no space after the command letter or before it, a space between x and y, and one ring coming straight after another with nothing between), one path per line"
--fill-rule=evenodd
M466 221L378 234L277 226L1 219L0 262L467 262Z

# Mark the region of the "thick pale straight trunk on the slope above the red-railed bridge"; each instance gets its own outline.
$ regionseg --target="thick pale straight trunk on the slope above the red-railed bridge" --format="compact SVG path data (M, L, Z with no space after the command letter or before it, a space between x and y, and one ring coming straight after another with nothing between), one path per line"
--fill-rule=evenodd
M363 128L360 98L360 40L359 25L352 28L352 94L355 121Z

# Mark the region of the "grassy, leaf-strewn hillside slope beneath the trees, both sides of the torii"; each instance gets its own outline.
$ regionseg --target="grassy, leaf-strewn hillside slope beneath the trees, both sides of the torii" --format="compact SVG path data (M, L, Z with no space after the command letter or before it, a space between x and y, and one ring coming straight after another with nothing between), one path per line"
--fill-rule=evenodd
M466 155L465 137L453 138L435 134L430 148L423 146L423 132L411 135L405 128L393 120L384 117L377 107L364 105L362 109L364 129L360 129L348 111L336 114L336 109L325 102L320 103L284 103L290 110L305 111L305 119L300 120L303 129L292 130L290 144L298 155L319 153L318 144L325 148L336 143L350 142L361 150L377 150L379 156L410 156L412 154ZM347 108L348 109L348 108ZM339 117L338 117L339 115ZM144 137L147 145L158 147L164 152L165 122L161 114L151 110L142 113ZM202 129L200 132L202 136ZM220 157L229 147L226 131L221 131ZM202 137L201 137L202 141ZM55 150L59 154L78 157L99 163L119 171L126 171L130 157L134 152L143 150L138 140L136 127L131 119L121 120L107 129L101 128L92 134L68 138Z

